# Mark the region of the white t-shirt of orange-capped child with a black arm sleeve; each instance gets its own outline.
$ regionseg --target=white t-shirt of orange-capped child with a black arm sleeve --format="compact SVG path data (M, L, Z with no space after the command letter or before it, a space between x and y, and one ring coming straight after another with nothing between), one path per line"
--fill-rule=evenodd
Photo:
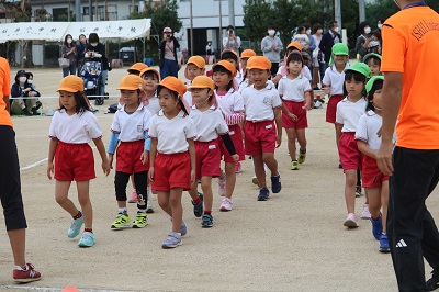
M211 142L216 139L218 134L224 135L228 133L228 126L224 120L223 113L219 109L215 109L215 105L212 105L211 109L205 112L199 111L196 105L193 105L190 117L196 128L195 141Z

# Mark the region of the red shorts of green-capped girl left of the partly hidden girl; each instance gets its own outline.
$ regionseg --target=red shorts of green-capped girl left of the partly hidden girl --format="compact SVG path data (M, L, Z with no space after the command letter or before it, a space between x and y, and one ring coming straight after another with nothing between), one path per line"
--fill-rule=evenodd
M358 149L354 132L341 134L338 143L338 155L344 170L361 168L363 154Z

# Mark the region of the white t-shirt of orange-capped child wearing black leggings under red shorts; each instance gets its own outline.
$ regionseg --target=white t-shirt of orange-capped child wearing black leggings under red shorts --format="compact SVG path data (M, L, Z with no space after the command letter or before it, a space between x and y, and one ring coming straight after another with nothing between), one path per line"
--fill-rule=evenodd
M149 130L150 121L150 112L143 103L132 114L125 112L124 105L114 114L111 131L119 133L119 141L121 142L145 139L145 133Z

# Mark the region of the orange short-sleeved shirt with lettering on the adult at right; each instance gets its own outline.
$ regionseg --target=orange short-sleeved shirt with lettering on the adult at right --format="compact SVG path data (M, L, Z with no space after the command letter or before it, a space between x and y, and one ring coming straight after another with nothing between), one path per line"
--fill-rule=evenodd
M428 7L404 9L382 33L381 71L403 74L396 145L439 149L439 14Z

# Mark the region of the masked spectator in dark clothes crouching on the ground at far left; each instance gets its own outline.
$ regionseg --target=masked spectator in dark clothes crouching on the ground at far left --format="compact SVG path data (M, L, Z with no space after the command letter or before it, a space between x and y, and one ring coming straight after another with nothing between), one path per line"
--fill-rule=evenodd
M29 75L32 79L27 80L27 74L19 70L15 76L15 83L12 85L11 96L15 98L11 103L12 114L25 114L27 116L40 115L38 109L42 103L36 99L40 92L33 88L33 75Z

